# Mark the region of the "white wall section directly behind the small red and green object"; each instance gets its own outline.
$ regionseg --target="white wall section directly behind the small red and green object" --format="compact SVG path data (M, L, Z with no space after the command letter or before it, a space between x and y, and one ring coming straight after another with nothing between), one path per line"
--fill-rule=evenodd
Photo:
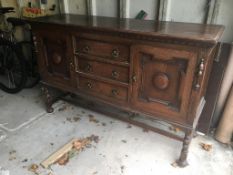
M129 0L129 17L135 18L138 12L148 13L146 19L156 19L158 0Z

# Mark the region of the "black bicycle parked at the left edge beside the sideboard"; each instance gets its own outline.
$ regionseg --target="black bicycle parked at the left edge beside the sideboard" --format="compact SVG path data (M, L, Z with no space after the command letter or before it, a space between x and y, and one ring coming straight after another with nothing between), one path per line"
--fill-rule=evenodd
M4 15L6 13L12 13L14 12L14 8L0 8L0 15ZM6 22L7 21L7 22ZM5 47L6 45L9 46L12 45L11 53L16 53L14 58L15 61L9 61L10 58L4 58L2 57L2 62L8 62L10 66L7 67L6 64L0 64L0 67L2 69L5 69L5 78L8 79L6 81L8 84L0 83L0 88L8 93L17 93L22 88L32 88L34 87L40 80L40 75L37 71L37 62L36 62L36 52L35 47L33 44L33 35L30 26L23 20L19 18L13 18L9 17L4 21L7 24L11 24L11 28L7 27L7 30L1 31L1 39L4 41L0 41L0 48ZM30 40L24 40L18 42L15 37L15 28L17 26L22 26L24 30L29 31L30 34ZM2 43L2 44L1 44ZM5 43L5 44L3 44ZM0 49L0 51L4 51L5 49ZM8 49L9 50L9 49ZM5 50L3 53L10 53L10 50ZM13 51L12 51L13 50ZM1 52L0 52L1 53ZM1 55L1 54L0 54ZM14 63L17 63L18 65L14 65ZM9 68L16 68L18 66L18 77L12 78L14 74L11 73L11 76L7 74L6 72L9 72ZM0 69L1 70L1 69ZM7 70L7 71L6 71ZM19 71L20 70L20 71ZM1 72L0 72L1 73ZM4 72L2 72L4 75ZM14 86L12 86L14 85Z

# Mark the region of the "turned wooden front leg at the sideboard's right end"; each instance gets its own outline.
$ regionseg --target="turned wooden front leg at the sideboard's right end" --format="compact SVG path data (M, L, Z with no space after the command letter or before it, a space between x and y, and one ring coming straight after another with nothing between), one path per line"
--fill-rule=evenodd
M176 161L179 167L183 168L188 165L188 162L187 162L188 150L189 150L189 145L191 143L192 138L193 138L193 131L186 131L184 141L183 141L183 147L180 153L180 158L179 160Z

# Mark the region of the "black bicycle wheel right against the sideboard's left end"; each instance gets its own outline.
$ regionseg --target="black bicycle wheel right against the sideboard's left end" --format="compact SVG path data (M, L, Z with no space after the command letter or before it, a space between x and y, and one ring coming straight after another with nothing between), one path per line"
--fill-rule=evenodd
M26 62L27 82L25 83L24 87L33 88L40 81L35 47L30 41L21 41L18 44L20 45L24 60Z

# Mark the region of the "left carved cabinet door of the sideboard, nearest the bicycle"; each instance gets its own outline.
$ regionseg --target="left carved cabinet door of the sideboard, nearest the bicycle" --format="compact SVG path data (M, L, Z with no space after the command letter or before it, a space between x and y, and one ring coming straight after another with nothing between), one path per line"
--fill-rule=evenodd
M40 32L36 36L42 79L63 87L72 85L72 40L69 35Z

